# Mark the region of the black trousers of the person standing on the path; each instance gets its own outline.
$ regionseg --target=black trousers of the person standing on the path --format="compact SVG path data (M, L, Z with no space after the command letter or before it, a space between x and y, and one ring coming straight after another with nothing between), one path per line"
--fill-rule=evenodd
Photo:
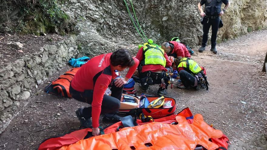
M211 48L216 47L217 32L219 30L220 18L203 18L203 38L202 47L206 47L208 42L208 32L211 27Z

